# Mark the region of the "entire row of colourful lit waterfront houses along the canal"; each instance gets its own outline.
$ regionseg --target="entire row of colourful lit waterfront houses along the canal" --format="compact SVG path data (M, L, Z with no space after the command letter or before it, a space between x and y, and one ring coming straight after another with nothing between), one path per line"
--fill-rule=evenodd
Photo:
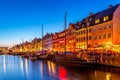
M77 23L70 23L66 30L47 33L42 39L35 38L14 46L14 51L79 51L80 49L119 50L120 5L90 13Z

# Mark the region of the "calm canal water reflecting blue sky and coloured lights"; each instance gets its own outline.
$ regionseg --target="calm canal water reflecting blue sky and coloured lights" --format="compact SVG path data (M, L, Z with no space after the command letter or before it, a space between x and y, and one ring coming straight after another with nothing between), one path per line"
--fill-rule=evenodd
M104 68L75 68L52 61L0 55L0 80L120 80L120 73Z

